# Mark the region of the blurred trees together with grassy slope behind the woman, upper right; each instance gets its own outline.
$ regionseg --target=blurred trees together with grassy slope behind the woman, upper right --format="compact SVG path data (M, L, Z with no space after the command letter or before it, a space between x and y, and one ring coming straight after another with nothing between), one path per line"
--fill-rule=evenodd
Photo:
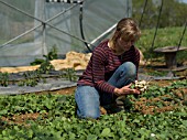
M187 3L180 2L180 0L163 0L156 32L162 0L147 0L144 9L145 1L132 0L132 18L138 21L142 30L142 36L136 46L143 52L146 60L161 56L164 60L164 54L154 53L154 49L179 45L183 32L185 31L185 23L187 22ZM145 10L144 13L143 10ZM183 36L180 46L187 46L187 31ZM183 63L186 60L186 52L177 53L178 63Z

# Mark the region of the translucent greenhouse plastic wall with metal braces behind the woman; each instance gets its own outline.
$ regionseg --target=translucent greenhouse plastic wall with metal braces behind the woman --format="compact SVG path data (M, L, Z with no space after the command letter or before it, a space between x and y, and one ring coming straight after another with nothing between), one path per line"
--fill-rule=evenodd
M79 20L80 6L46 0L0 0L0 66L30 65L53 46L57 47L59 58L69 51L88 52L80 31L85 41L91 43L121 18L131 17L131 0L84 0L82 20ZM92 42L94 46L109 35Z

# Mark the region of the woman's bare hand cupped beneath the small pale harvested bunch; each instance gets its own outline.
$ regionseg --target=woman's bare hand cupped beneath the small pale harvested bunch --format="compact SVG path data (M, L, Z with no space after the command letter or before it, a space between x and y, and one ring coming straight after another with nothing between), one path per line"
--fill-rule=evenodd
M140 95L140 90L138 89L131 89L130 88L131 84L123 86L122 88L114 88L114 94L117 96L122 96L122 95Z

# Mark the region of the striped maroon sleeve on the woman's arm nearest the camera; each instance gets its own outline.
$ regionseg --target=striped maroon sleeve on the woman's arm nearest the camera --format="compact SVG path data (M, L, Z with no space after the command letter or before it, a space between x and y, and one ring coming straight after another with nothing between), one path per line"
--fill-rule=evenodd
M110 85L105 80L106 64L108 58L106 51L101 47L96 49L92 53L92 78L95 87L105 93L113 93L114 86Z

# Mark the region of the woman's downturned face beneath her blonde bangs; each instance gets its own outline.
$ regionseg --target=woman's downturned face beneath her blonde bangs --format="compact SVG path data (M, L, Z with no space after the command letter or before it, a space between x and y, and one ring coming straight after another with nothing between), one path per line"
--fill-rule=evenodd
M117 40L117 47L119 47L121 51L129 51L131 46L134 44L134 41L125 41L122 37L119 37Z

